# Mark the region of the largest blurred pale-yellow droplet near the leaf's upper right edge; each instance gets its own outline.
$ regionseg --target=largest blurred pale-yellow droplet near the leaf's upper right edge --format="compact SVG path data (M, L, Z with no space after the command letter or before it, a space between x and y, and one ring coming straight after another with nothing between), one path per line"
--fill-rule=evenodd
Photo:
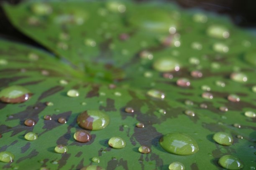
M213 38L225 39L229 37L228 29L221 25L211 25L206 32L207 35Z

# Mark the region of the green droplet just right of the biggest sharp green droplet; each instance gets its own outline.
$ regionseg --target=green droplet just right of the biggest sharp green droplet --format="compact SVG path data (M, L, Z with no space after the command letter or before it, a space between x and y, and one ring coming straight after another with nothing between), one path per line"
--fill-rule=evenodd
M212 138L220 145L229 146L233 144L233 137L229 133L218 132L215 133Z

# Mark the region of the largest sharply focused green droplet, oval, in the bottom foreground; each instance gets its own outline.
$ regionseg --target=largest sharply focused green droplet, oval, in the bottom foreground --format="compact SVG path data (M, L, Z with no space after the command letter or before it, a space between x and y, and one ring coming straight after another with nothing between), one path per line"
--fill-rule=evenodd
M160 139L161 147L176 155L192 155L199 150L196 141L184 133L169 133Z

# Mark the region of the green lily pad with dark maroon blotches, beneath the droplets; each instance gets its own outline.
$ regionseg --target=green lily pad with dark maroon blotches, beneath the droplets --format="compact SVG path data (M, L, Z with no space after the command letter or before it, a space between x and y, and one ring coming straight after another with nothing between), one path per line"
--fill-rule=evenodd
M162 2L52 0L4 8L13 25L55 55L0 40L0 90L21 85L33 93L20 104L0 102L0 152L15 155L13 163L0 162L2 169L73 170L92 164L146 170L168 169L172 162L188 170L222 169L223 155L236 156L244 169L255 166L255 117L244 113L256 112L256 39L228 18ZM212 25L220 28L216 34L209 30ZM176 60L179 69L155 70L162 58ZM195 70L202 77L193 77ZM240 72L246 78L236 76ZM189 87L179 86L181 78ZM202 97L203 85L210 87L212 99ZM79 96L69 97L71 89ZM152 89L160 92L152 97L147 93ZM240 101L228 100L231 94ZM223 106L228 111L221 111ZM125 112L126 107L134 112ZM90 142L79 143L73 137L81 130L77 116L86 110L105 112L110 124L89 131ZM46 115L52 120L44 120ZM60 117L67 123L59 123ZM36 125L25 126L28 118ZM144 128L136 127L138 122ZM28 132L38 138L26 140ZM212 137L218 132L231 134L233 144L216 143ZM189 135L199 151L166 152L159 140L169 133ZM112 137L125 140L125 148L108 146ZM57 145L67 146L67 153L54 152ZM140 153L141 145L151 153Z

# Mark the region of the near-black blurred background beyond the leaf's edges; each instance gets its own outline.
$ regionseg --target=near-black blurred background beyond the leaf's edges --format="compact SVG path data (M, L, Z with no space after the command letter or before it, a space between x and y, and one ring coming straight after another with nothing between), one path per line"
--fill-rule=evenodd
M22 0L0 0L1 2L18 4ZM147 2L148 0L134 0ZM256 0L161 0L165 2L174 1L184 8L197 7L207 11L230 15L233 23L243 28L256 29ZM8 21L2 7L0 7L0 37L25 42L39 46L34 40L15 29Z

